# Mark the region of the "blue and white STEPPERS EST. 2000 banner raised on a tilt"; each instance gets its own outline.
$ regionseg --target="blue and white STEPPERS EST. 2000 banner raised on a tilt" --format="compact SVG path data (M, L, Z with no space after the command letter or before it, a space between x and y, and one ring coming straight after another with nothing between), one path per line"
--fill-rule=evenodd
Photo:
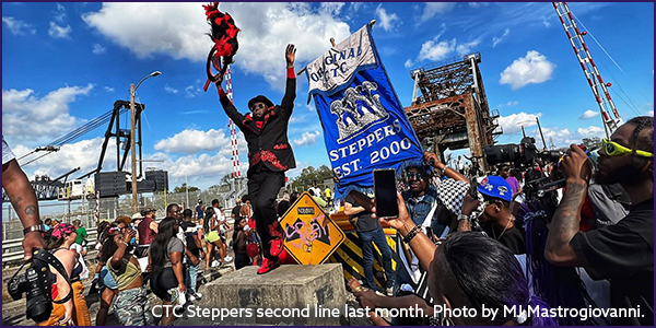
M328 159L339 178L338 198L353 188L373 187L375 168L398 169L422 157L370 32L362 27L306 70Z

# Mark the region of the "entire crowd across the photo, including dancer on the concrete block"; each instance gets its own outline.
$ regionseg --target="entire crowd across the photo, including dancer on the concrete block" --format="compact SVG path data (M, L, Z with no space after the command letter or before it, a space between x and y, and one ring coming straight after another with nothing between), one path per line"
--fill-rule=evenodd
M206 270L233 260L236 270L254 265L258 274L293 261L284 250L279 219L300 195L278 195L285 172L296 166L286 137L295 99L295 51L288 45L280 105L258 95L248 102L251 113L243 115L222 90L221 77L216 79L221 105L249 149L248 194L233 209L224 210L219 199L207 208L199 200L194 210L168 204L161 221L155 210L144 210L98 223L92 283L101 298L96 325L105 325L112 311L125 326L154 324L148 290L163 305L200 300L203 261ZM476 159L466 167L458 156L452 168L425 153L400 169L397 218L378 220L373 195L366 192L352 191L343 203L335 201L343 204L362 243L364 281L351 279L348 285L363 307L425 309L424 316L390 321L372 313L376 325L653 325L653 117L636 117L605 139L598 152L573 144L551 163L535 159L529 165L505 163L483 173L473 165ZM2 187L24 226L24 259L45 249L66 272L50 266L56 302L42 325L90 325L81 283L92 276L84 261L86 230L80 220L40 222L34 190L4 139L2 153ZM543 180L552 183L551 189L537 190L536 181ZM315 183L308 192L319 206L332 206L331 189L321 191ZM383 222L396 229L396 249L387 243ZM382 285L374 279L376 248L385 274ZM434 306L475 308L478 315L435 315ZM483 306L502 315L482 316ZM507 306L522 309L511 315ZM529 306L639 307L643 316L543 317L531 315ZM174 319L163 312L160 324Z

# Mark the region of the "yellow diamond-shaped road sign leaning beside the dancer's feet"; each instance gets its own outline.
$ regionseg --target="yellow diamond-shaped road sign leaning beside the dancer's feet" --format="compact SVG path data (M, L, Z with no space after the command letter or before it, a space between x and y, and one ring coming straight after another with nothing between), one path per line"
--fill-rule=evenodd
M284 248L301 265L325 262L345 238L307 191L284 213L280 225Z

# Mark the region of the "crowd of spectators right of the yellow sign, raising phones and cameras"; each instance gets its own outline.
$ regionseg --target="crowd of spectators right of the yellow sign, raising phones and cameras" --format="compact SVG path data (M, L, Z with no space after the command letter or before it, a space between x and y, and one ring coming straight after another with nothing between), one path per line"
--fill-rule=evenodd
M653 325L653 117L636 117L594 153L572 144L557 162L500 165L481 177L427 153L432 167L405 168L398 218L380 220L399 236L397 270L385 270L391 296L366 268L366 282L349 286L363 307L425 309L425 317L391 321L372 312L377 325ZM537 181L552 184L538 190ZM375 218L366 198L347 198L345 209L359 218L356 231ZM388 250L379 249L386 267ZM478 315L435 316L434 305ZM484 317L483 306L504 315ZM508 316L503 309L512 306L520 311ZM634 312L544 316L531 307Z

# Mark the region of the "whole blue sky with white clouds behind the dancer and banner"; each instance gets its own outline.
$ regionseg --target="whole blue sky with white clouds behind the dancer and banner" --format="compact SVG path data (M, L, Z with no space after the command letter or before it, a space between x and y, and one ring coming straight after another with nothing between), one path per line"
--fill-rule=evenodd
M570 3L588 31L586 42L624 119L653 115L654 4ZM401 103L410 104L409 71L480 51L492 108L517 142L518 124L560 147L602 137L601 119L551 3L222 3L242 33L233 66L237 108L284 86L284 46L296 44L296 68L372 19L374 39ZM232 172L227 118L213 86L204 93L211 48L201 3L2 3L2 132L25 154L129 99L129 85L151 71L138 101L147 104L144 166L169 172L171 185L188 177L208 187ZM593 39L604 47L604 49ZM619 68L606 55L606 51ZM328 164L307 83L300 77L290 140L300 168ZM587 114L586 114L587 112ZM121 118L127 122L126 118ZM25 166L28 175L93 169L106 127ZM241 162L247 168L239 133ZM460 152L458 152L460 153ZM115 168L108 153L105 169ZM297 175L300 168L291 171ZM74 175L75 176L75 175Z

